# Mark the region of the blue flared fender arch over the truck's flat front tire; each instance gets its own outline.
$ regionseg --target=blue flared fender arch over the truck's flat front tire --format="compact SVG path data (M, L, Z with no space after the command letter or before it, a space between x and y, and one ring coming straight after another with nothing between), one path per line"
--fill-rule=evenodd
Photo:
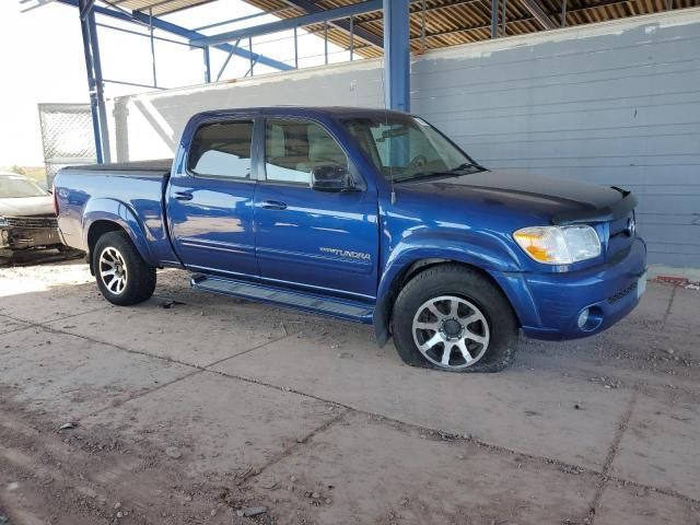
M442 259L463 262L489 273L520 271L516 252L490 232L416 232L402 238L388 255L380 279L374 329L380 346L388 340L393 301L406 270L421 260Z

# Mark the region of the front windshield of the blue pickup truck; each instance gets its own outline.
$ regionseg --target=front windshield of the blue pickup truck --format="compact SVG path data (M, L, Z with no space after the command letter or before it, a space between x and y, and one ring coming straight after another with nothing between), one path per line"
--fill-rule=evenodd
M387 115L342 122L387 180L401 183L486 170L418 117Z

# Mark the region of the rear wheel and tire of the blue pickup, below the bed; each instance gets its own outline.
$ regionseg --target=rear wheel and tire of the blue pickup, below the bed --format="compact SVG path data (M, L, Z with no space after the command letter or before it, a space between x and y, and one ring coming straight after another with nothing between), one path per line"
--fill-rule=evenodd
M97 287L112 304L130 306L153 295L155 268L145 264L125 232L101 236L92 257Z

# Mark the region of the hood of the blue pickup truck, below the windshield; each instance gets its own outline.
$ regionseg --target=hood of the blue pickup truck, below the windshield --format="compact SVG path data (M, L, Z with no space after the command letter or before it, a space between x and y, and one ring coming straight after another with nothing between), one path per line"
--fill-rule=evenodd
M622 198L610 187L522 173L489 171L424 183L397 185L408 191L468 201L550 219L556 213L604 208ZM428 197L428 196L425 196Z

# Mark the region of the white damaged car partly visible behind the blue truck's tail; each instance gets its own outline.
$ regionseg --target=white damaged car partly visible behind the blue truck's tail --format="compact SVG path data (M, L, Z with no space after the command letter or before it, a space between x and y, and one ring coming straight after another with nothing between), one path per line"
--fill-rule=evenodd
M63 250L54 198L34 180L0 172L0 265L30 250Z

